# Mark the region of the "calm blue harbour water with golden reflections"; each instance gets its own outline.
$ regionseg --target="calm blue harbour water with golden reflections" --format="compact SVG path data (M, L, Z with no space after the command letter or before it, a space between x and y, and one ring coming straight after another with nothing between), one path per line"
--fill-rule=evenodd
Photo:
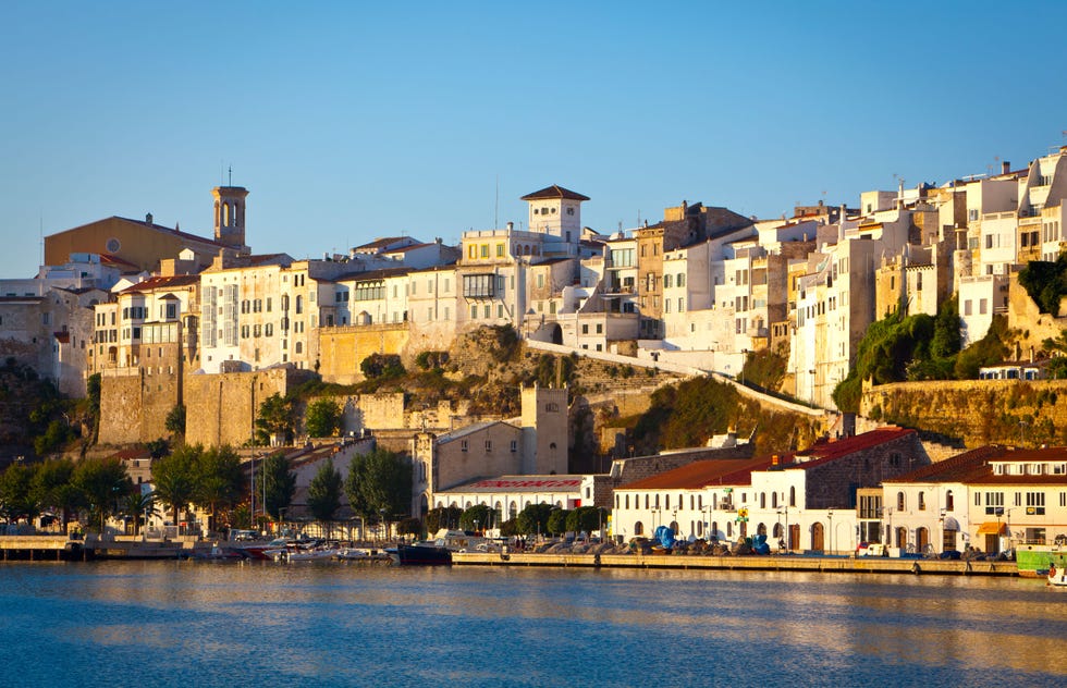
M1064 686L1067 590L973 577L0 565L0 686Z

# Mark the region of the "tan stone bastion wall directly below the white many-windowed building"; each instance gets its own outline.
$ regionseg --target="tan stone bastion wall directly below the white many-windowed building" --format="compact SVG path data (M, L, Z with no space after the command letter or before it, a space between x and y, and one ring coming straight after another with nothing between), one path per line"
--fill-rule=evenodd
M252 437L259 405L285 396L310 373L292 367L255 372L188 376L185 384L185 440L191 444L240 446Z

